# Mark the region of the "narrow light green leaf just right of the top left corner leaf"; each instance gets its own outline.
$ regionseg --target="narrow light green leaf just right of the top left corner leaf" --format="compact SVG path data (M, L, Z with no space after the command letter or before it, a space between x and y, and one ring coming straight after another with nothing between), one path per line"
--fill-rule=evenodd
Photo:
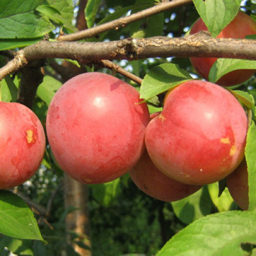
M77 31L77 29L72 25L71 21L63 17L61 12L52 6L40 5L36 8L36 11L40 12L42 16L46 16L53 20L53 22L59 24L60 26L64 26L73 32Z

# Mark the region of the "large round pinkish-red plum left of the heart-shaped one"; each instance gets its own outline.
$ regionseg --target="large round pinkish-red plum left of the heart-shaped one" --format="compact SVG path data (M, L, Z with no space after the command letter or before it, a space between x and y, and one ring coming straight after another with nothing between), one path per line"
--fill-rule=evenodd
M84 184L112 181L141 157L149 121L130 84L108 74L73 77L53 97L47 136L60 167Z

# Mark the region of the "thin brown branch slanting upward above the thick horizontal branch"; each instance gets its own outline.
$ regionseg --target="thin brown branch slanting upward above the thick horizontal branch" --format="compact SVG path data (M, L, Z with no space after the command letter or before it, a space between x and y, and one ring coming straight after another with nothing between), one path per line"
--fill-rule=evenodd
M176 8L178 6L191 3L192 0L173 0L172 2L163 2L158 4L157 6L145 9L140 12L136 12L130 16L115 19L112 22L108 22L102 25L99 25L94 28L90 28L87 30L79 31L76 33L72 33L69 35L62 35L58 37L58 40L61 41L76 41L81 40L84 38L94 37L99 33L111 30L111 29L118 29L120 27L124 27L129 23L135 22L136 20L143 19L145 17L166 11L171 8Z

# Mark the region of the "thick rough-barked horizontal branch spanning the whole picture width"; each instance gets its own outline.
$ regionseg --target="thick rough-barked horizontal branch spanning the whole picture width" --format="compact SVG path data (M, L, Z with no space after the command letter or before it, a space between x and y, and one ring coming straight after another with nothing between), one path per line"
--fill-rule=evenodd
M40 41L18 51L15 58L0 69L0 80L36 59L68 58L91 63L102 59L136 60L173 56L256 60L256 40L212 38L200 33L184 38L161 36L109 42Z

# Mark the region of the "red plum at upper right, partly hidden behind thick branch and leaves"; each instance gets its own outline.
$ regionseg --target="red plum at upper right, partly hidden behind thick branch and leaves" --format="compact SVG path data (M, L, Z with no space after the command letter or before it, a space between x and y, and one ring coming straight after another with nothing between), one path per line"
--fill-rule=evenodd
M190 34L195 34L201 30L208 31L202 18L199 18L191 28ZM221 31L217 38L245 38L246 35L251 34L256 34L254 20L239 11L238 15ZM189 59L197 73L205 79L208 79L210 68L217 60L217 58L204 57L190 57ZM249 69L234 70L221 77L216 83L221 86L235 86L248 80L254 72L255 70Z

